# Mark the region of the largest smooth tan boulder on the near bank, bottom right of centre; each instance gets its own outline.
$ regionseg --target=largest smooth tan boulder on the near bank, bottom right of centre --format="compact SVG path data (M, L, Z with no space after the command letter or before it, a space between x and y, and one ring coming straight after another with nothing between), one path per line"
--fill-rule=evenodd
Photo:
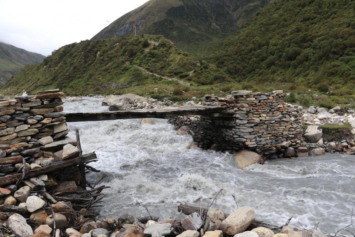
M255 211L249 206L242 206L230 214L219 225L219 229L226 235L236 235L246 230L255 220Z

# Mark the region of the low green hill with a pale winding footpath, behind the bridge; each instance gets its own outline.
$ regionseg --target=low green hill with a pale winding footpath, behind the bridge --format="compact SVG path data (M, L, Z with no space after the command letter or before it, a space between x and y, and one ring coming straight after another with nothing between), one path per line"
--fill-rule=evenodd
M203 85L228 80L214 65L195 60L163 36L141 35L65 45L42 64L24 66L4 89L14 94L51 88L72 95L153 93L177 100L184 90L191 92L185 97L204 95L211 86Z

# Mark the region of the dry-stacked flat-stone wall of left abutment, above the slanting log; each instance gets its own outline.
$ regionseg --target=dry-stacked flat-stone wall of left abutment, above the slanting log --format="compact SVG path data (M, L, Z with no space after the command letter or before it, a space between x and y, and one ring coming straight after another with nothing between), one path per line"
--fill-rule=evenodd
M69 133L62 112L63 95L57 89L0 101L0 176L15 172L23 158L26 169L54 162L49 147Z

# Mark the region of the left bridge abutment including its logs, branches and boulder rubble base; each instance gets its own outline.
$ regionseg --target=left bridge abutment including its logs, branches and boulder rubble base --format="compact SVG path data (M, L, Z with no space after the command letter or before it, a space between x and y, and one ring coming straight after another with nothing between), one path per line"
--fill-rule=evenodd
M0 236L66 236L98 215L87 209L108 187L86 181L86 169L99 172L87 165L96 155L81 154L78 131L76 142L66 137L62 96L57 89L0 101Z

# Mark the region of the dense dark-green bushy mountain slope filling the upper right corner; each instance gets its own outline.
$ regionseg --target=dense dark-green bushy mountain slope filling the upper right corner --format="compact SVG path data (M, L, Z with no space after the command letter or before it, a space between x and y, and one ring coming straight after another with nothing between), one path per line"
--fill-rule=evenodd
M200 56L245 88L288 82L354 98L354 9L351 0L274 0Z

